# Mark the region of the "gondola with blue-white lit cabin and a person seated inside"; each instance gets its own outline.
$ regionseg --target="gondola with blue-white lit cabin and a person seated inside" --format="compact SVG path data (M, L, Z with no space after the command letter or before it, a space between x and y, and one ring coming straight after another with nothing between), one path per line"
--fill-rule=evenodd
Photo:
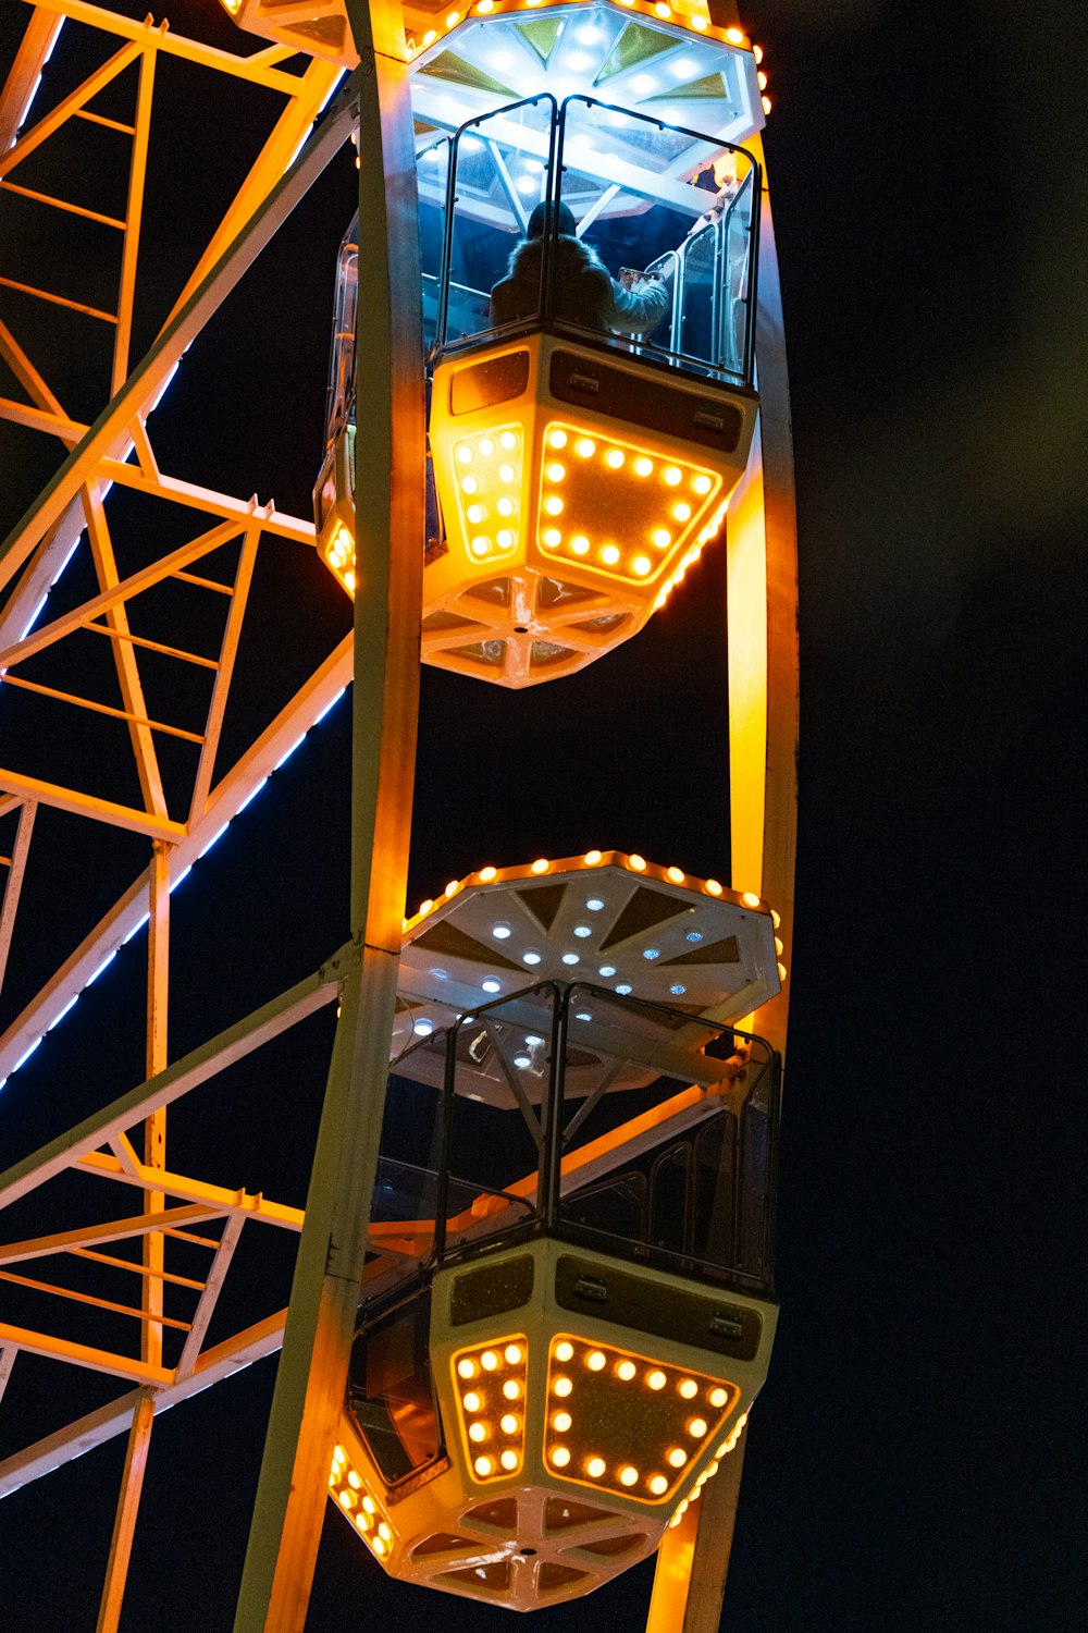
M636 634L744 474L762 183L731 137L759 122L757 70L679 15L600 3L491 7L413 67L432 369L422 656L520 687ZM349 593L356 235L315 488L318 550Z

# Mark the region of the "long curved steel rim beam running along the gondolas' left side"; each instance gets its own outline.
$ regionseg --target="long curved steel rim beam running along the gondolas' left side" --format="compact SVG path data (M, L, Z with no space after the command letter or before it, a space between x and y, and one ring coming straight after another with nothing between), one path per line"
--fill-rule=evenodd
M422 312L403 18L347 0L359 67L359 413L352 929L343 1012L261 1463L237 1633L305 1623L339 1414L385 1101L403 934L419 696L424 541Z

